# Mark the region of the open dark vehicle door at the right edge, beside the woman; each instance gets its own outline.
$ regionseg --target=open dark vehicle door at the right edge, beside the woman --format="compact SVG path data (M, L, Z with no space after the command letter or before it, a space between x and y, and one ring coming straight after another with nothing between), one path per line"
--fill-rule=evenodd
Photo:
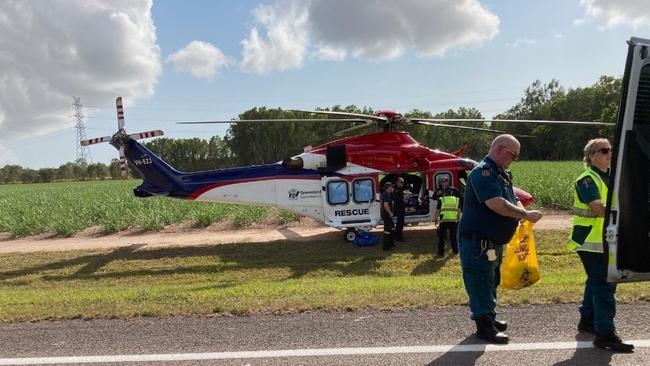
M628 45L605 215L610 282L650 280L650 40Z

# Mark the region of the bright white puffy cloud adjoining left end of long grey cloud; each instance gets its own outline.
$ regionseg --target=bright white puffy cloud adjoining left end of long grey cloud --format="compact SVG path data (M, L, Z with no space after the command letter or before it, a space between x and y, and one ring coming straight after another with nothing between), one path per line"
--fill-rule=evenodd
M273 70L300 67L307 53L307 11L293 1L275 6L259 5L253 10L255 20L265 27L266 37L257 28L242 41L245 72L267 74Z

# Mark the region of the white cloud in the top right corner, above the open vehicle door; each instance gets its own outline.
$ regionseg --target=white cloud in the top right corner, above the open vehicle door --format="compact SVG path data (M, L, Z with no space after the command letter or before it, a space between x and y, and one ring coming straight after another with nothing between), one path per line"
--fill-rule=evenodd
M574 20L574 25L584 24L588 19L596 19L605 27L650 25L648 0L580 0L580 4L585 8L585 17Z

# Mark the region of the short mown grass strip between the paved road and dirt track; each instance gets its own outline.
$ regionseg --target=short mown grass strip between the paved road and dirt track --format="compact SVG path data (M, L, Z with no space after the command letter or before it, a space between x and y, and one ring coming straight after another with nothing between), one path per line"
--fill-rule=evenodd
M0 321L465 304L457 257L434 257L432 230L386 254L338 233L309 242L0 255ZM500 290L501 304L578 302L585 280L566 231L536 233L542 279ZM623 284L620 302L649 301L647 284ZM577 309L576 309L577 316Z

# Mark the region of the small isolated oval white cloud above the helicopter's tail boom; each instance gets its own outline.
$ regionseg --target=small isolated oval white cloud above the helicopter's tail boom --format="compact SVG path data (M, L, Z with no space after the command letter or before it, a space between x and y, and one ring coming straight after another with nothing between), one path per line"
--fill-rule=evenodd
M213 78L230 61L220 49L208 42L192 41L167 57L178 71L186 71L197 78Z

